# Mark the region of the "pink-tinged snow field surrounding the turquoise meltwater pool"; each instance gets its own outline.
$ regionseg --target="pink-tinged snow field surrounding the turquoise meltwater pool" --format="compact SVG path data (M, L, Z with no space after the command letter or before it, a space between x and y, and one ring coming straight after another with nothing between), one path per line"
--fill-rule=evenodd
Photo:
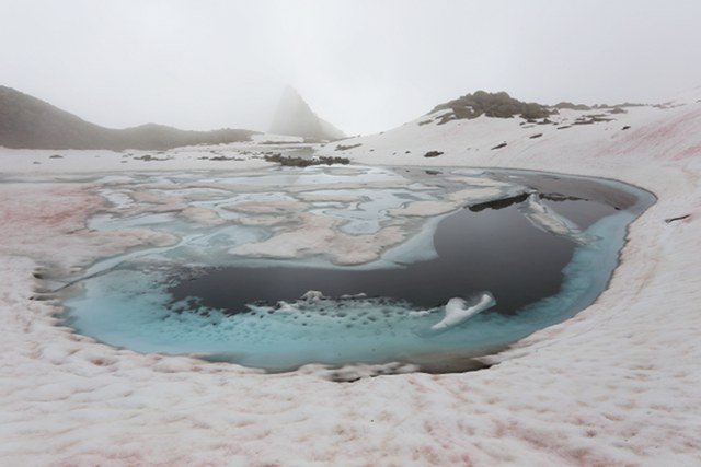
M8 465L698 465L698 98L630 109L613 124L553 128L538 140L518 136L515 120L407 125L366 137L347 154L375 164L613 177L658 197L630 227L621 264L594 305L490 359L489 370L462 374L336 384L319 378L318 367L263 375L71 335L53 325L50 302L32 300L41 297L33 275L50 275L36 270L36 259L60 250L70 261L56 267L70 269L105 250L168 238L143 231L91 235L85 215L103 206L80 184L0 184L0 458ZM621 131L623 125L631 129ZM492 139L509 144L491 151ZM375 151L363 152L369 148ZM412 155L398 159L405 148ZM424 149L445 154L424 159ZM0 163L4 173L26 173L37 168L32 157L49 154L1 150ZM66 154L51 160L51 170L60 177L88 157ZM166 163L176 167L179 160ZM149 164L160 162L114 170L163 167Z

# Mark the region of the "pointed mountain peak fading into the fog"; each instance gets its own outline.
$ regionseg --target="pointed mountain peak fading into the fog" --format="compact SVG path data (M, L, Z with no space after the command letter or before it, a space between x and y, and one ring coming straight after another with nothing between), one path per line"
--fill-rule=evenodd
M277 106L271 132L315 140L345 138L345 133L313 113L299 93L287 86Z

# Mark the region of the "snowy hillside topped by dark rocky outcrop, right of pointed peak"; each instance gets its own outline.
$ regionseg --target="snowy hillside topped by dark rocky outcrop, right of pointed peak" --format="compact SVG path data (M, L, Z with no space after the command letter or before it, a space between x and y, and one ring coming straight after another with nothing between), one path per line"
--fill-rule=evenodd
M505 92L476 91L435 106L428 114L377 135L329 143L318 155L348 157L366 164L494 165L540 152L572 154L579 141L625 140L643 121L662 119L683 106L698 105L698 93L678 102L586 106L526 103ZM694 142L694 144L697 144ZM589 150L587 150L588 152ZM585 156L581 154L581 156Z

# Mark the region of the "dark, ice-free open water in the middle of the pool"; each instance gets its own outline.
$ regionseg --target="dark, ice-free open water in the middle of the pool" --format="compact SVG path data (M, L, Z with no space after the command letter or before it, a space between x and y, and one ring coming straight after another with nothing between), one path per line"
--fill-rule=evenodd
M596 201L550 202L586 229L614 208ZM535 229L517 203L479 212L462 209L444 219L434 237L438 258L402 269L315 269L309 267L226 267L211 269L169 289L174 301L197 296L200 304L235 314L246 304L294 301L310 290L338 297L365 293L405 301L416 308L490 291L494 311L513 314L554 295L575 243Z

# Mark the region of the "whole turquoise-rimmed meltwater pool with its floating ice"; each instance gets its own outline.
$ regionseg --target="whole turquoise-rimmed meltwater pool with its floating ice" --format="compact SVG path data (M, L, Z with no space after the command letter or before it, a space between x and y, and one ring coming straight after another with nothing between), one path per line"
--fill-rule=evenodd
M139 352L269 372L460 367L591 304L654 197L608 179L467 168L274 167L94 182L95 231L169 242L104 258L62 324Z

